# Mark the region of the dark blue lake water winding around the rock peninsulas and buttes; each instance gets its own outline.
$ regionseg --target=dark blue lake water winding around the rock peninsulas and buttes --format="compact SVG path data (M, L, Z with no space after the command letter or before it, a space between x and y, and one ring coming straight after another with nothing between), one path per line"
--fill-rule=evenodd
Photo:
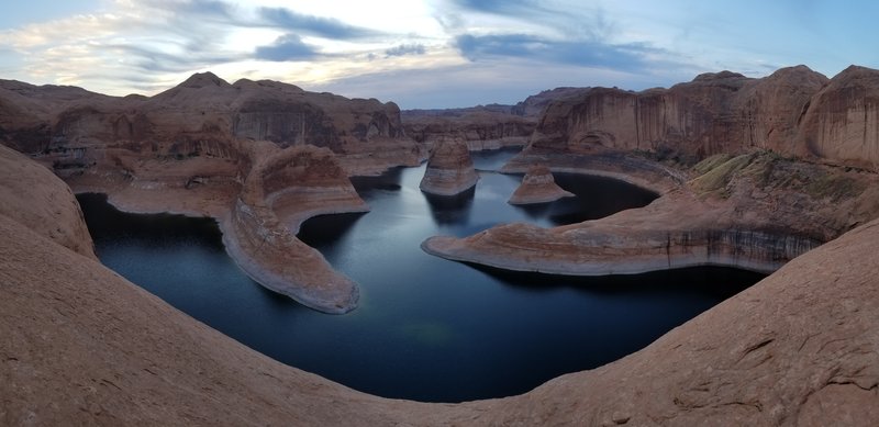
M510 151L478 155L499 168ZM359 307L325 315L265 290L225 255L214 222L115 211L79 195L101 261L192 317L281 362L388 397L460 402L519 394L643 348L760 279L724 268L567 278L446 261L419 248L513 221L600 217L654 195L558 176L576 199L507 204L520 177L482 172L474 192L429 198L422 168L355 184L372 211L303 224L300 237L360 284Z

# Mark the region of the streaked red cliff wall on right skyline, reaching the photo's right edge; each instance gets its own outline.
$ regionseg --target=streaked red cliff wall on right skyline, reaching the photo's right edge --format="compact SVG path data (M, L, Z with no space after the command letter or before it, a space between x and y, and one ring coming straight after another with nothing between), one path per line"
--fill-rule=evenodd
M872 168L877 100L879 71L855 66L832 80L797 66L761 79L704 74L641 92L591 88L550 101L531 146L642 150L683 164L759 148Z

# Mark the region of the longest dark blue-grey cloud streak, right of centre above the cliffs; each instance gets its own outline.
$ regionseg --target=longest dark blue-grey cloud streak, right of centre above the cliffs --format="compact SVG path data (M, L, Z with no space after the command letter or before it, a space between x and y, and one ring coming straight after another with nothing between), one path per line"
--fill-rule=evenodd
M646 65L647 54L661 53L644 44L605 44L596 41L554 41L528 34L460 35L455 40L460 54L470 60L485 58L531 58L588 67L635 70Z

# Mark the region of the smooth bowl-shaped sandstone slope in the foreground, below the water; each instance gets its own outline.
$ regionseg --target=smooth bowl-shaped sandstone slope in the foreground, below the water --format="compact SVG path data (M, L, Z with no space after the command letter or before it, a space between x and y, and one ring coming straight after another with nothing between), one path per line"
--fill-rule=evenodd
M29 160L0 149L3 161ZM64 184L30 165L10 192ZM25 187L26 186L26 187ZM520 396L422 404L369 396L220 335L78 252L77 215L0 213L3 425L874 425L879 222L602 368ZM65 207L67 209L67 207ZM461 384L466 386L466 384Z

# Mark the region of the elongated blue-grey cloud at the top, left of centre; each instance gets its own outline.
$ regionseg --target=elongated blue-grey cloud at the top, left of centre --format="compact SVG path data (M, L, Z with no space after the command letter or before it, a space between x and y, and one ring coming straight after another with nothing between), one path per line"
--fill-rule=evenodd
M285 8L259 8L258 14L260 22L257 25L277 26L326 38L354 40L377 34L372 30L348 25L335 19L301 14Z

